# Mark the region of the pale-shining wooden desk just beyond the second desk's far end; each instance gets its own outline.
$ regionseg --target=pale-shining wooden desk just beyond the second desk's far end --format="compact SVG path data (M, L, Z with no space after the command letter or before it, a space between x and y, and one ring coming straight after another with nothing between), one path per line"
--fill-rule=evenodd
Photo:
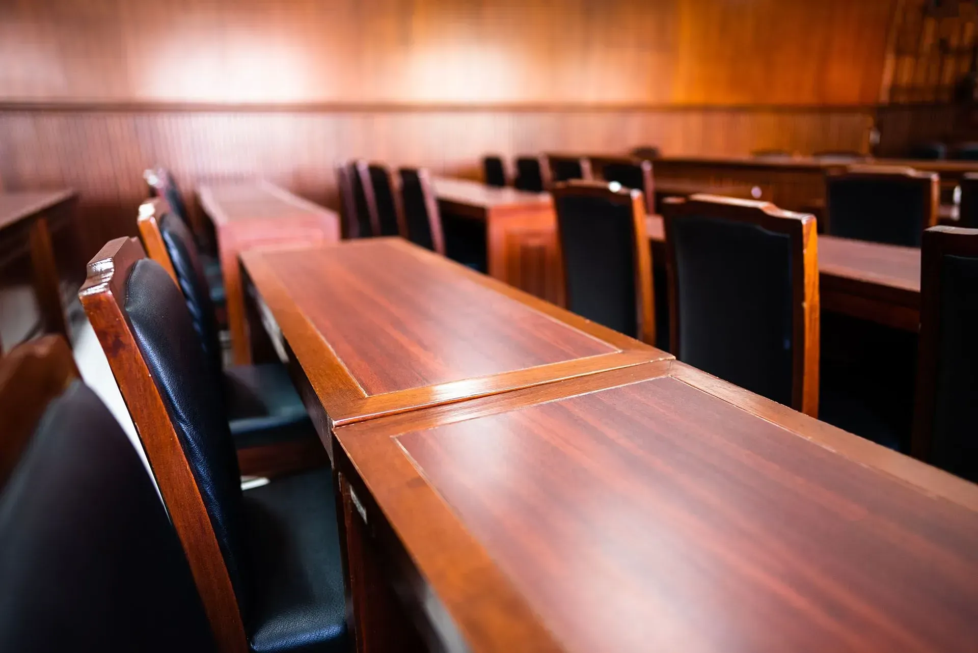
M251 358L239 254L259 245L335 242L339 240L339 217L263 181L200 186L198 197L217 237L234 361L246 365Z

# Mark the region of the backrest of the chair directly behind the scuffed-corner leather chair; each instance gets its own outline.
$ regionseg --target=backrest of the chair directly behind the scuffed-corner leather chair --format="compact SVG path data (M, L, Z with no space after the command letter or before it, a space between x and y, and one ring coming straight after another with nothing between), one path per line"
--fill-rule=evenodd
M177 220L165 201L143 202L136 220L147 253L180 286L200 336L200 347L214 373L223 369L221 339L200 252L187 226Z

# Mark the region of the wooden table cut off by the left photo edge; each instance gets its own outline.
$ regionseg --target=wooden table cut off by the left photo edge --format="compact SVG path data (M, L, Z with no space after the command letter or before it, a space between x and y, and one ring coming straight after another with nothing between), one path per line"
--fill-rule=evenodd
M76 197L71 190L0 194L0 353L37 331L70 342L52 230L73 227ZM73 232L67 237L76 240ZM72 263L61 266L68 275Z

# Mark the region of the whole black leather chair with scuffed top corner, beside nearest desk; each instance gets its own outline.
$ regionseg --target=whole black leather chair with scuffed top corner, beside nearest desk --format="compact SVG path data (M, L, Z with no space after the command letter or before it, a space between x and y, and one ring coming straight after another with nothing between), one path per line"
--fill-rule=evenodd
M242 491L221 381L177 286L110 241L79 293L156 474L222 650L348 651L328 468ZM246 642L246 644L245 644Z

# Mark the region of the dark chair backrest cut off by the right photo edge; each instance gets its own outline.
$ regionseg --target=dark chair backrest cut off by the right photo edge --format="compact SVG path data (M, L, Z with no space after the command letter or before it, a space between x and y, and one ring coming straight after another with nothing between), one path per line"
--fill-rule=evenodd
M978 483L978 230L923 234L911 451Z

